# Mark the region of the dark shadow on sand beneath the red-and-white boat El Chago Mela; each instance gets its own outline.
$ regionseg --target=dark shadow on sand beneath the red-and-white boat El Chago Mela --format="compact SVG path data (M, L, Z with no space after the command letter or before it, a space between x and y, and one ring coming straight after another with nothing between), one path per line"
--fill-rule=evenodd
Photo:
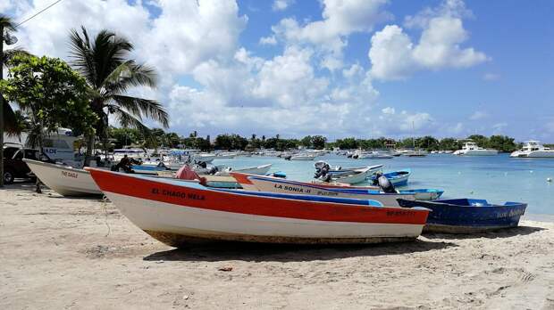
M248 242L218 242L161 251L144 257L147 261L295 262L346 257L376 257L457 247L452 242L407 241L367 245L293 245Z

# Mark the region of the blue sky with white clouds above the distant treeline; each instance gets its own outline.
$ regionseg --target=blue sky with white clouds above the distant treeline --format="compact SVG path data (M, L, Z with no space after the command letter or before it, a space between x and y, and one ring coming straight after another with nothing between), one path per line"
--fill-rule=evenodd
M0 12L21 21L53 2ZM180 135L554 143L552 12L551 0L63 0L17 37L66 61L70 29L127 37L159 75L131 93L163 102Z

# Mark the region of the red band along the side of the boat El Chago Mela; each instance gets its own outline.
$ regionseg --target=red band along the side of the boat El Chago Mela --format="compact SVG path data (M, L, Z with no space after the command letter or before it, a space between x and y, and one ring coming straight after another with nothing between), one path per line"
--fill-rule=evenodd
M218 192L87 168L103 192L190 208L331 222L425 224L428 210L382 208Z

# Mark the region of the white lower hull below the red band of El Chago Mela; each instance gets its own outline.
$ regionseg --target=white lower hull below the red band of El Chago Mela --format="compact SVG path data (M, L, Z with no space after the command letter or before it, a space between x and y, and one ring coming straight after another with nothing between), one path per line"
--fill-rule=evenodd
M255 216L189 208L165 202L105 192L133 224L158 239L179 235L203 240L323 242L332 243L379 238L416 238L420 224L346 223ZM171 238L171 237L170 237Z

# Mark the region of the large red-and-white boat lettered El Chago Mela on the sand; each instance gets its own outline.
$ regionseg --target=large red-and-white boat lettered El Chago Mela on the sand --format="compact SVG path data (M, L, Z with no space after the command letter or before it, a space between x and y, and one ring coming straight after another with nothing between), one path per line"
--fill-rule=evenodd
M194 241L374 243L414 240L429 210L272 192L208 189L145 175L87 168L133 224L180 247Z

